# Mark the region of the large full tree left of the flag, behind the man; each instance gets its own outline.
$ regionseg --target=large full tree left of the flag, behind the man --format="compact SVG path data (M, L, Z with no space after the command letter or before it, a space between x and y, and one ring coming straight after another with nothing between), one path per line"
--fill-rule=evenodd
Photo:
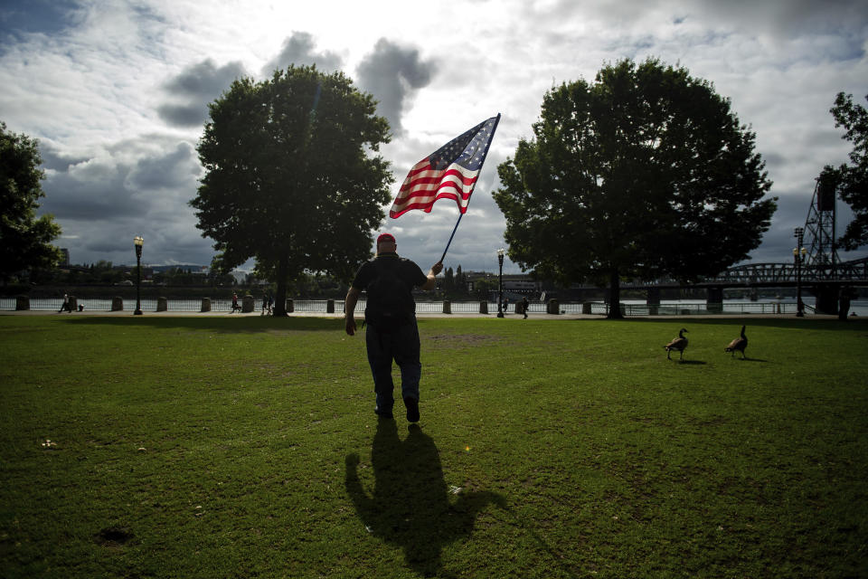
M370 256L393 178L377 155L389 125L371 95L341 72L290 66L234 81L209 107L206 173L190 204L220 268L256 258L258 277L277 282L275 316L303 272L349 279Z

